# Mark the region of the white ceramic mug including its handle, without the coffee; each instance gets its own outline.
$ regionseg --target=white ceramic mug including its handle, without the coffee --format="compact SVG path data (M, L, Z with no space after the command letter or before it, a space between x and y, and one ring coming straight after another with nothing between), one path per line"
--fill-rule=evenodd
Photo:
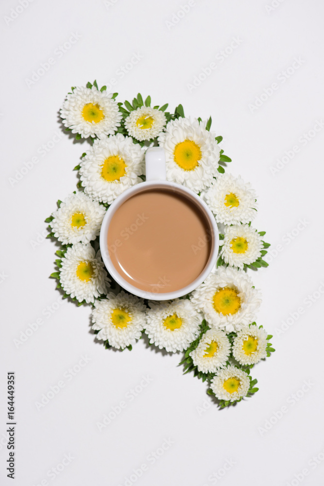
M122 288L124 288L128 292L131 292L134 295L137 295L138 297L142 297L145 299L169 300L169 299L181 297L183 295L187 295L189 292L192 292L209 275L213 266L216 263L217 256L218 256L219 232L218 232L215 217L213 216L212 212L210 211L210 209L208 208L208 206L205 204L205 202L201 197L199 197L195 192L191 191L185 186L181 186L180 184L176 184L175 182L170 182L166 180L165 152L162 148L160 147L148 148L145 156L145 165L146 165L146 182L136 184L135 186L132 186L131 188L124 191L122 194L120 194L117 197L117 199L115 199L115 201L107 209L107 212L102 221L102 226L100 231L100 250L102 254L102 260L109 274L112 276L112 278L114 278L114 280L116 280L117 283L119 283L119 285ZM148 189L158 189L158 190L166 189L168 191L171 190L186 197L189 201L191 201L191 203L193 203L202 212L210 227L210 235L211 235L210 254L204 270L195 280L190 282L186 287L183 287L182 289L173 292L164 292L164 293L147 292L145 290L136 288L134 285L126 281L118 273L109 256L108 242L107 242L108 228L113 215L127 199L134 196L138 192L146 191ZM190 262L188 262L188 264L190 264Z

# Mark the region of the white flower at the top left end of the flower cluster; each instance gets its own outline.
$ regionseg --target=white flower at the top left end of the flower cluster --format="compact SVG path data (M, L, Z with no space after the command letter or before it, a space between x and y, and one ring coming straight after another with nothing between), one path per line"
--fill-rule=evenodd
M83 138L113 135L122 118L112 94L93 86L78 86L68 93L60 110L63 124Z

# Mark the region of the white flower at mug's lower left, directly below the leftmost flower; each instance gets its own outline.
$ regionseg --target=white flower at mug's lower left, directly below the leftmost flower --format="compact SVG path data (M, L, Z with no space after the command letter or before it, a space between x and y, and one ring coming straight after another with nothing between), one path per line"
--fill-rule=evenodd
M110 282L100 251L96 254L90 243L75 243L68 247L62 258L59 279L66 294L87 303L105 294Z

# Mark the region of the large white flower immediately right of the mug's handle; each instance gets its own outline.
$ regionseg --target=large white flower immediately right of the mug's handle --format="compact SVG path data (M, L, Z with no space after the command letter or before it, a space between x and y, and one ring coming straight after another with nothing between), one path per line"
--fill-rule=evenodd
M210 187L218 174L220 148L206 122L189 118L169 121L158 137L166 153L167 179L192 191Z

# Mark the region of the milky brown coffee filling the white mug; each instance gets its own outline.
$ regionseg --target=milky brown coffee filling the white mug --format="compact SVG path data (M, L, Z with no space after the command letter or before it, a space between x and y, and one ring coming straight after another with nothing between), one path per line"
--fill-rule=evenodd
M205 269L211 227L186 196L144 189L113 215L107 245L112 264L127 282L147 292L174 292Z

